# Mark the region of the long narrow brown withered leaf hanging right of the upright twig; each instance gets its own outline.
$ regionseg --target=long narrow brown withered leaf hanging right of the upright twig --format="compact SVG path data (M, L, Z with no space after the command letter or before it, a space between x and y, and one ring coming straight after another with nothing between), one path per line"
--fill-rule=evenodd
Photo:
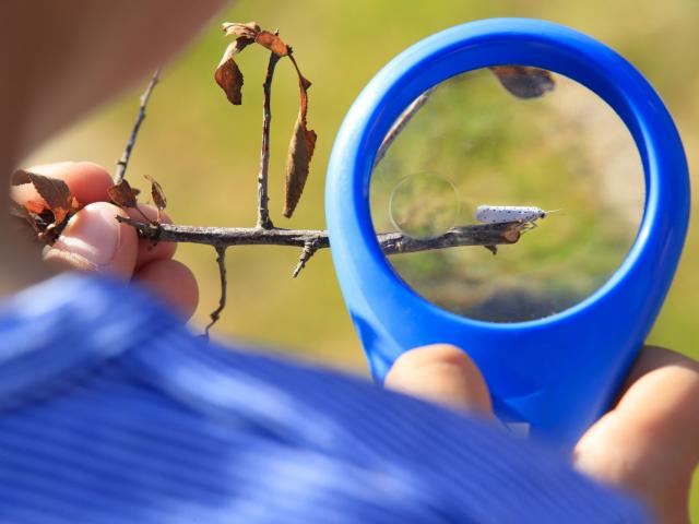
M286 218L291 218L294 214L294 210L304 192L317 139L316 132L309 130L306 122L306 116L308 114L308 87L310 86L310 82L308 82L299 71L294 56L289 55L289 58L298 73L300 106L286 158L286 192L284 199L284 216Z

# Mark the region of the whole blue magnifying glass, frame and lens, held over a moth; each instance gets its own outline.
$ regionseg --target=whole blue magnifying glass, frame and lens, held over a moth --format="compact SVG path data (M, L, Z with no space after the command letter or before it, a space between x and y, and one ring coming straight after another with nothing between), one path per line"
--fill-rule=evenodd
M603 44L524 19L394 58L350 109L327 183L375 379L405 350L454 344L506 425L564 449L609 407L689 215L682 142L650 84Z

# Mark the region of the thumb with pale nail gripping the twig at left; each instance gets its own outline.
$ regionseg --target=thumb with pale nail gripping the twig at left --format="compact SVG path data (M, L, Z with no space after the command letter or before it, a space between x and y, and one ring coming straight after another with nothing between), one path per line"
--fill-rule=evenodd
M44 250L44 260L61 271L107 273L131 278L135 267L135 230L117 222L126 216L106 202L86 205L73 215L56 242Z

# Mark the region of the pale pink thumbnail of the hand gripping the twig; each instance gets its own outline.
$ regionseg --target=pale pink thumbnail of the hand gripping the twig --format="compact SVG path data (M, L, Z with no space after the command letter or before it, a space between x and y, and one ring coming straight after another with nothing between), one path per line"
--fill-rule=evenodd
M114 260L120 241L114 210L90 204L74 215L44 257L67 259L76 269L98 271Z

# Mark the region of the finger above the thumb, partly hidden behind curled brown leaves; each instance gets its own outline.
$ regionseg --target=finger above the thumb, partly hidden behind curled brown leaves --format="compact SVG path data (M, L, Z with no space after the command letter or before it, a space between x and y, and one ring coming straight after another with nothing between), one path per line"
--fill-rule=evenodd
M92 162L43 164L29 167L27 171L63 180L81 205L86 205L92 202L109 201L107 189L111 187L111 178L103 167ZM31 183L13 186L11 195L12 199L20 204L29 200L35 202L44 201Z

